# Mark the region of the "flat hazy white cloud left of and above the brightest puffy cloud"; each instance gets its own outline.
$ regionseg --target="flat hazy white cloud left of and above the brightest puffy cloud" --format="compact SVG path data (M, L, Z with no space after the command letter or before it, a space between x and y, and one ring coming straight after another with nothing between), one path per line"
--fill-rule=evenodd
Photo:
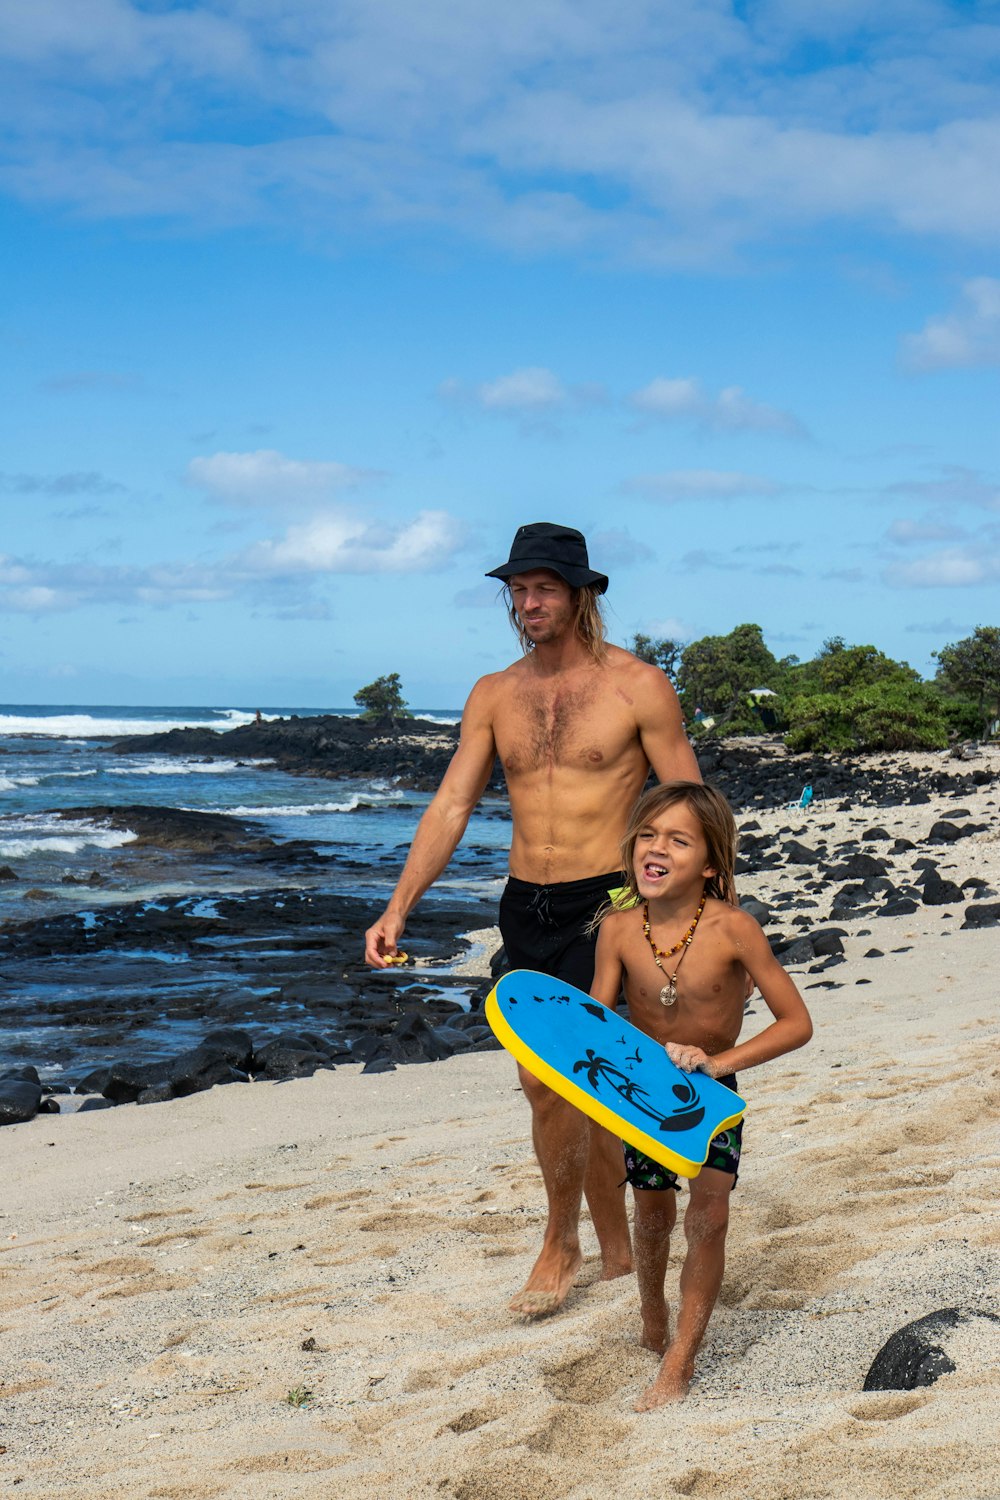
M375 470L289 459L276 448L258 448L192 459L186 477L231 506L310 506L381 476Z

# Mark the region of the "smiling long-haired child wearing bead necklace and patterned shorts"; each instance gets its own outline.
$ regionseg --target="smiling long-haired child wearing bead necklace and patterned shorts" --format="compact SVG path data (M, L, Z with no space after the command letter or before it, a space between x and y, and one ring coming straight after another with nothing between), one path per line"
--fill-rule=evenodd
M664 782L637 802L622 840L627 885L600 922L591 996L615 1008L622 992L633 1024L663 1042L685 1072L708 1072L736 1089L736 1070L805 1046L813 1023L795 984L753 916L736 906L736 824L726 798L699 782ZM621 906L631 897L627 910ZM747 975L774 1020L738 1044ZM726 1266L729 1196L736 1186L742 1124L721 1131L690 1184L687 1258L673 1340L664 1299L673 1172L625 1146L636 1196L636 1275L642 1342L663 1354L657 1378L636 1402L646 1412L681 1401L694 1374Z

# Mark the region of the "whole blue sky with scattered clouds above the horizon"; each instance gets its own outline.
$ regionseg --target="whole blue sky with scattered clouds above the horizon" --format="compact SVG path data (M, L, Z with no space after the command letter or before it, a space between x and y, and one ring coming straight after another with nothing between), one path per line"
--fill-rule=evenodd
M1000 618L1000 8L0 9L0 699L457 705L525 520L612 638Z

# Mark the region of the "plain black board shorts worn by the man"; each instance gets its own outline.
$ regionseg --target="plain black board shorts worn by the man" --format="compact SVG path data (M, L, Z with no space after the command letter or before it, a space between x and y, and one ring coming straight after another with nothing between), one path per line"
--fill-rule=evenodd
M588 927L622 884L621 870L558 885L532 885L510 876L499 909L507 968L537 969L589 992L597 933Z

